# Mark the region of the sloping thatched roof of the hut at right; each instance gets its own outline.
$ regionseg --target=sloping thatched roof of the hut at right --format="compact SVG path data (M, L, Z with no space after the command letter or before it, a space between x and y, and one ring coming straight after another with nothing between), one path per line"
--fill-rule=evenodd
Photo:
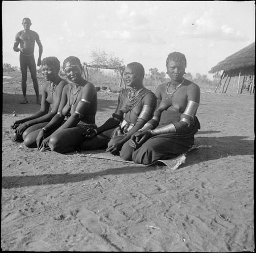
M209 73L214 73L220 70L241 69L255 66L255 42L247 45L240 51L226 57L225 60L218 63Z

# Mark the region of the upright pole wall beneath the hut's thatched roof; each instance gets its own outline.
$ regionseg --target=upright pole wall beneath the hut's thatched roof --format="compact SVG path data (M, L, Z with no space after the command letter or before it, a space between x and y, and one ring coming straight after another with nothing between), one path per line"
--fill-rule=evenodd
M242 68L224 71L224 76L214 92L253 94L254 68Z

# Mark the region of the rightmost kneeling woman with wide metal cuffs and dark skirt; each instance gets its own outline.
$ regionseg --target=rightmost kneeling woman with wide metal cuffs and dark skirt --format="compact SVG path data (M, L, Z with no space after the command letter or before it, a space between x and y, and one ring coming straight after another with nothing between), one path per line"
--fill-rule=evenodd
M196 117L200 88L183 77L187 60L182 53L170 53L166 67L171 81L156 89L158 109L123 146L120 156L125 160L151 164L180 155L194 144L194 135L200 129Z

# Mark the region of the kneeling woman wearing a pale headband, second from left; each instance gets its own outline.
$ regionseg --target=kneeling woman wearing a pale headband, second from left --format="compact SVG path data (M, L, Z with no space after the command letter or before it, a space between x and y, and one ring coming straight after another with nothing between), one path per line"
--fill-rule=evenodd
M64 72L71 83L61 96L57 114L44 126L36 138L38 150L65 153L80 145L86 130L96 128L97 92L95 86L82 78L82 65L75 56L64 60ZM65 117L68 117L64 121Z

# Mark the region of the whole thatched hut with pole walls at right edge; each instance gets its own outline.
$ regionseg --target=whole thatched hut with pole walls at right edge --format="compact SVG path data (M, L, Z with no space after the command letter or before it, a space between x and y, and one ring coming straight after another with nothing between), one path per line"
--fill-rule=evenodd
M210 69L209 73L220 72L221 80L214 92L254 93L255 42L226 57Z

